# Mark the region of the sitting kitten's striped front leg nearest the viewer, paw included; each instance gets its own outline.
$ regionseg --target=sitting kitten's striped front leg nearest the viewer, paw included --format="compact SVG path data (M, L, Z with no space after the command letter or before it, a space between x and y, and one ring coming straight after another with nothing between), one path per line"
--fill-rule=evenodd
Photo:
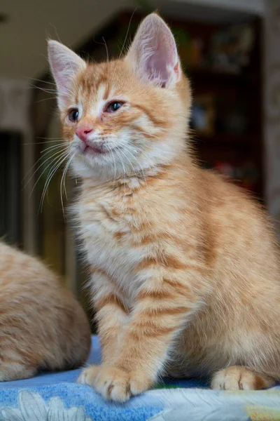
M116 361L104 364L94 379L92 386L105 399L124 402L151 387L173 338L195 309L186 286L169 279L160 288L151 284L138 295Z

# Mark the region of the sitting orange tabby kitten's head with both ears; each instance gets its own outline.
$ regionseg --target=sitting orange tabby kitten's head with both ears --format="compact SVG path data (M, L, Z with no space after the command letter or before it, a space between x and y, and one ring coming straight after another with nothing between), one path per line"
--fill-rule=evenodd
M155 13L124 58L87 63L49 41L63 135L82 176L116 178L169 163L185 147L190 88L174 36Z

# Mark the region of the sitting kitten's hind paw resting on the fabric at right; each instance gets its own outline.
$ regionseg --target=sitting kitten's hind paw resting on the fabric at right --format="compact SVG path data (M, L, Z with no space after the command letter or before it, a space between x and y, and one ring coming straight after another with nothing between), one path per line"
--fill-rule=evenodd
M275 385L272 377L255 373L246 367L231 366L214 374L211 389L217 390L258 390Z

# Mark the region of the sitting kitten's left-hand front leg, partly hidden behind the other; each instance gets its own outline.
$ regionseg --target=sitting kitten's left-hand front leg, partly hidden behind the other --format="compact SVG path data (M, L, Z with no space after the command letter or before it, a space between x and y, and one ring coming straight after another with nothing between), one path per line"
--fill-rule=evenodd
M127 310L116 286L105 273L94 270L92 289L98 335L102 347L102 364L112 364L116 360L121 334L127 324ZM85 368L78 378L78 382L92 385L100 367L102 366Z

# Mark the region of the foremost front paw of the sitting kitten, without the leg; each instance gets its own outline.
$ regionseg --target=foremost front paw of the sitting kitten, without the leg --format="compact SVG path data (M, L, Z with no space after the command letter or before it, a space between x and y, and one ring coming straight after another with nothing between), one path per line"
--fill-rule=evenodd
M128 373L118 367L102 366L94 381L94 389L110 401L126 402L130 396L144 392L151 382L143 375Z

